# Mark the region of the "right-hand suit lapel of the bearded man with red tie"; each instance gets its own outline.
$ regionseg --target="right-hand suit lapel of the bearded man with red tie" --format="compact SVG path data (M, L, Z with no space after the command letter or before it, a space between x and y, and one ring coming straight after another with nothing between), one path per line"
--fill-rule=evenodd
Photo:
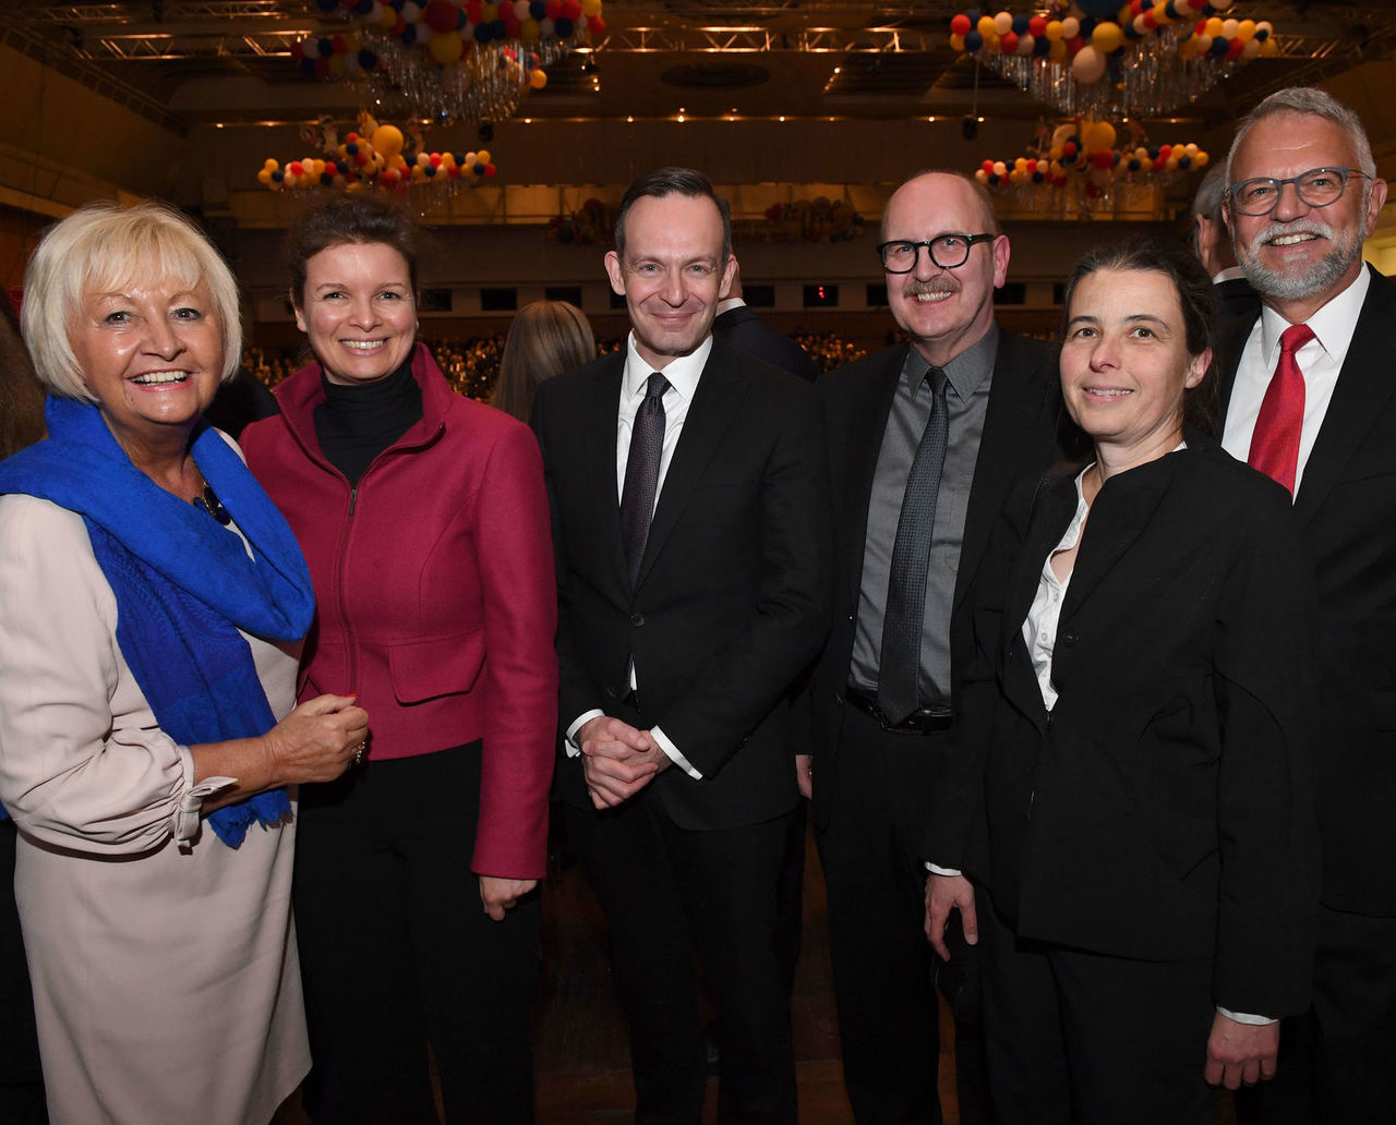
M1393 303L1396 286L1372 271L1371 288L1357 317L1353 342L1294 498L1294 514L1301 522L1311 519L1323 504L1368 430L1382 416L1388 399L1396 392L1396 381L1392 380L1386 359L1390 352L1389 329L1396 320Z

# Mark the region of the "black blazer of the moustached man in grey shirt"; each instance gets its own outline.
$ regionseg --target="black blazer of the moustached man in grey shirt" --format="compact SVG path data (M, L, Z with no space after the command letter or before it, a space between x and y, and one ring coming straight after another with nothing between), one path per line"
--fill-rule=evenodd
M797 748L812 750L815 776L824 779L835 776L863 579L868 498L906 348L898 345L864 356L822 375L814 385L824 409L833 479L833 621L810 683ZM1057 387L1055 345L1001 334L955 579L952 701L959 695L959 680L972 653L966 593L984 558L994 518L1013 480L1041 472L1057 456ZM815 782L815 824L828 822L832 796L828 783Z

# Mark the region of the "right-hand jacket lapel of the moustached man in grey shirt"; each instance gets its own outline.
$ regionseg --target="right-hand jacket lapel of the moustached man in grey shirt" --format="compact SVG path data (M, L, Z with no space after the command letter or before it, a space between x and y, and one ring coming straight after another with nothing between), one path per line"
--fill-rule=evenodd
M1034 387L1034 382L1041 385ZM980 438L970 486L969 511L965 514L965 537L960 544L959 572L955 579L955 609L959 609L979 571L994 519L1004 507L1008 490L1022 476L1025 458L1033 452L1033 435L1046 399L1051 394L1051 375L1040 370L1022 341L1000 332L994 381L988 392L988 413Z

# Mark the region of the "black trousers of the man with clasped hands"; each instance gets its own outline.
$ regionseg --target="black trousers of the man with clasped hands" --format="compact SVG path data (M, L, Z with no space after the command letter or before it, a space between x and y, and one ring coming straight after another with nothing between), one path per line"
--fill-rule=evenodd
M652 787L616 810L567 805L565 815L610 928L616 992L630 1022L635 1121L701 1119L697 955L722 1040L719 1121L793 1125L789 937L778 924L789 818L692 832L670 819Z

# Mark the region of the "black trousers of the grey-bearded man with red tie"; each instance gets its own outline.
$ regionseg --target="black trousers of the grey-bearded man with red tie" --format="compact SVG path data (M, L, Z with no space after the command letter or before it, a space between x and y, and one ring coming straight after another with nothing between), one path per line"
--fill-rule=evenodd
M1238 1092L1237 1119L1396 1121L1396 918L1319 907L1314 1006L1284 1020L1279 1072Z

